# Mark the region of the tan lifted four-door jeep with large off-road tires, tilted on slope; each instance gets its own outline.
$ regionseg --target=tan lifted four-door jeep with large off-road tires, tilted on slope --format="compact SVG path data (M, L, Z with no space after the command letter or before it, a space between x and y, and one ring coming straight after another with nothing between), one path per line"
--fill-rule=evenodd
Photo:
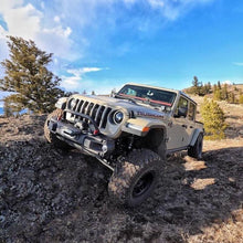
M135 207L155 189L168 154L201 158L203 124L196 122L196 102L180 91L126 84L112 96L60 98L44 134L56 147L77 148L108 167L109 194Z

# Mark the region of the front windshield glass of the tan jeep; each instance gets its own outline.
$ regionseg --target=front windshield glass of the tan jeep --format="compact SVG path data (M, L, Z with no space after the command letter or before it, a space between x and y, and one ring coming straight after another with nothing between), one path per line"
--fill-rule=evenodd
M149 102L154 105L172 106L177 96L173 92L142 87L136 85L125 85L117 95L124 98L134 98L136 101Z

